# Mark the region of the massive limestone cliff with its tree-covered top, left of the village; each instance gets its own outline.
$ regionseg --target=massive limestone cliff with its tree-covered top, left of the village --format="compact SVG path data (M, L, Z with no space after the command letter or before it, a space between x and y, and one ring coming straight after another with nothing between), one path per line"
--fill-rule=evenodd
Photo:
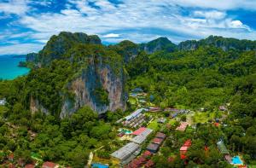
M32 56L32 55L31 55ZM27 58L27 61L35 61ZM57 72L58 62L68 62L67 68L75 69L68 73L68 80L62 78L59 81ZM62 62L61 62L62 61ZM54 62L54 64L52 64ZM42 88L38 96L36 93L30 98L30 109L32 113L41 111L44 113L60 114L61 118L69 116L76 112L80 107L89 106L97 113L115 111L117 109L125 110L125 73L123 67L124 59L116 53L114 49L108 49L101 44L101 40L96 36L88 36L84 33L61 32L58 36L49 39L38 54L38 61L35 71L42 72L44 76L53 76L57 78L32 77L38 87L51 84L52 90L49 94L58 93L57 97L60 103L52 107L51 98L45 98ZM65 63L64 65L66 65ZM38 68L39 67L39 68ZM37 74L37 73L35 73ZM48 75L49 74L49 75ZM43 77L44 77L43 76ZM46 82L44 82L47 80ZM51 82L52 80L52 82ZM55 87L55 85L60 87ZM33 87L33 86L32 86ZM42 90L42 91L41 91ZM38 98L35 98L38 97ZM57 98L56 97L56 98ZM43 100L44 104L39 100ZM50 107L49 110L48 107ZM52 112L54 111L54 112Z

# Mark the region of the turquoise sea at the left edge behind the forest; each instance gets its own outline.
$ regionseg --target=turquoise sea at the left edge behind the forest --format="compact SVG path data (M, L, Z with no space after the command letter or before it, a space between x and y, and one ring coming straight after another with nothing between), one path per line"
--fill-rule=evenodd
M0 55L0 78L11 80L26 75L30 70L18 67L20 61L25 61L25 55Z

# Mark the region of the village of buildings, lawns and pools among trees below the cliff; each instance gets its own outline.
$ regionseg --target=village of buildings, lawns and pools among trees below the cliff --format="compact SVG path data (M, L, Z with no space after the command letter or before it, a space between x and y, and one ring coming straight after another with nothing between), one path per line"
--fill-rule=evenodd
M107 157L102 157L102 154L100 154L103 147L91 151L87 167L149 168L154 167L154 160L152 158L156 155L162 157L167 155L170 163L174 159L179 158L186 165L189 162L186 154L193 144L193 138L179 139L178 144L181 145L178 148L170 154L163 154L162 149L163 146L166 146L167 142L171 141L174 143L177 141L174 138L175 134L179 132L195 134L197 125L212 125L216 128L228 126L223 122L227 115L229 115L228 105L218 107L216 113L207 113L203 107L196 112L173 107L162 109L147 101L147 96L147 93L144 93L140 88L131 90L128 102L136 110L118 119L113 127L113 130L118 132L116 139L122 145L112 145ZM149 100L150 98L152 97L149 96ZM4 103L5 100L1 100L1 106ZM15 125L9 126L15 127ZM31 133L31 136L33 138L36 135ZM207 145L202 148L205 148L207 154L209 150ZM216 148L218 148L219 153L223 155L226 162L233 165L233 167L247 167L242 159L242 154L230 154L230 151L225 147L224 140L219 139L216 143ZM44 162L39 154L32 153L31 158L34 160L34 165L25 165L22 163L22 160L18 160L18 164L20 167L25 168L33 168L38 165L42 165L43 168L65 167L51 161ZM14 154L9 153L7 159L9 163L12 163L14 161Z

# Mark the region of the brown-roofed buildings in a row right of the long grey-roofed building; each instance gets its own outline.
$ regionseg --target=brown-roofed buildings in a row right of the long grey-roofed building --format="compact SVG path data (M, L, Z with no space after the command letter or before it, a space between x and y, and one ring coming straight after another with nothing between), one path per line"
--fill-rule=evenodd
M157 153L157 151L160 148L160 145L165 141L165 139L165 134L157 132L154 139L148 144L148 147L146 149L151 153Z

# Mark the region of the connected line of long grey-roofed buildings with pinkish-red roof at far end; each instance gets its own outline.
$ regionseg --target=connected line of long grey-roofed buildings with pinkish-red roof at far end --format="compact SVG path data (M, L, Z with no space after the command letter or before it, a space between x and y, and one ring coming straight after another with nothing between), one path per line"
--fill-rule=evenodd
M132 159L135 159L141 152L141 144L145 142L147 137L153 132L153 130L141 127L135 130L131 135L131 142L127 143L124 147L119 148L119 150L110 154L115 162L119 165L127 165Z

